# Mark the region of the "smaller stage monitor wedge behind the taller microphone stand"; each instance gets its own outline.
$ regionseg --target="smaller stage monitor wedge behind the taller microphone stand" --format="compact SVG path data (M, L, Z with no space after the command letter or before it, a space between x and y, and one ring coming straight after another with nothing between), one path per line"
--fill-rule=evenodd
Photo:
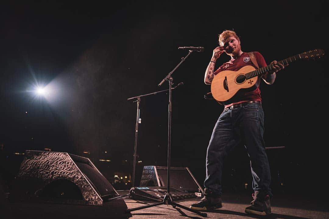
M167 186L167 170L166 166L144 166L140 186ZM170 187L203 193L188 167L170 167Z

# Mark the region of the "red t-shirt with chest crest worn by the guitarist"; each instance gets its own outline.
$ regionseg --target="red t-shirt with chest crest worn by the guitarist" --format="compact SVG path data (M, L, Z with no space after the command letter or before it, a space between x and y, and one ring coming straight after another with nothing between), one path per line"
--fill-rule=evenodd
M257 60L257 64L259 66L259 68L265 67L267 66L266 61L263 57L262 54L260 54L259 52L253 52L256 60ZM237 59L231 59L228 62L225 62L222 66L220 66L215 72L214 74L217 75L218 73L220 74L221 71L224 70L230 70L230 71L238 71L239 69L241 69L242 67L246 66L246 65L251 65L254 68L257 69L257 67L252 63L249 54L248 53L242 53ZM244 102L244 101L261 101L261 91L259 89L259 86L253 90L253 91L249 91L249 92L243 92L243 89L238 91L229 101L229 103L225 104L225 107L228 105L232 105L234 103L239 103L239 102Z

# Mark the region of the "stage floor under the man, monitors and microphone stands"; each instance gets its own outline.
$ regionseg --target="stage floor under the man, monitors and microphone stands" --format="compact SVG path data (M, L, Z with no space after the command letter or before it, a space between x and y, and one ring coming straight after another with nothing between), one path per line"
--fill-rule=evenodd
M120 190L120 195L128 194L127 190ZM177 204L190 207L190 204L199 201L200 198L184 199L176 201ZM248 206L251 197L241 194L224 194L222 197L223 208L205 211L207 218L246 219L246 218L277 218L277 219L328 219L329 204L323 201L308 199L273 198L271 200L272 214L267 216L248 215L244 208ZM136 208L155 202L134 200L129 196L107 201L103 206L82 206L54 203L29 203L5 201L1 205L1 218L206 218L189 210L171 205L159 205L155 207L134 210L130 213L126 209ZM4 215L5 214L5 215Z

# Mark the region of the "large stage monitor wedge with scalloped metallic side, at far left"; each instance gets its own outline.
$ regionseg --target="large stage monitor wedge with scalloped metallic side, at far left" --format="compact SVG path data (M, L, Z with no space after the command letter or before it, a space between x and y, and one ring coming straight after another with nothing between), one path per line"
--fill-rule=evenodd
M102 206L119 195L96 166L85 157L26 150L10 200Z

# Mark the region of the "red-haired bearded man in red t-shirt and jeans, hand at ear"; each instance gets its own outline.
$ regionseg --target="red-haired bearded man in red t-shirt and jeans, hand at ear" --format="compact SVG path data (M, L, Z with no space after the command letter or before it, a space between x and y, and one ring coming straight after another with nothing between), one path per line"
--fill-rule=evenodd
M259 52L244 53L241 51L240 38L234 31L226 30L218 35L219 47L213 51L213 56L207 67L204 81L211 84L214 76L221 71L238 71L251 65L255 69L267 66L264 57ZM215 63L222 53L231 56L231 60L221 65L216 71ZM271 213L270 199L270 168L265 152L264 113L261 105L259 82L273 84L276 72L284 69L283 64L272 61L271 69L258 76L256 86L240 89L232 98L225 101L224 110L219 116L208 148L206 157L206 179L204 181L204 197L200 202L190 206L195 210L209 210L222 207L222 167L223 161L236 145L242 143L250 158L252 187L254 200L245 208L246 213L266 215ZM223 73L224 74L224 73Z

